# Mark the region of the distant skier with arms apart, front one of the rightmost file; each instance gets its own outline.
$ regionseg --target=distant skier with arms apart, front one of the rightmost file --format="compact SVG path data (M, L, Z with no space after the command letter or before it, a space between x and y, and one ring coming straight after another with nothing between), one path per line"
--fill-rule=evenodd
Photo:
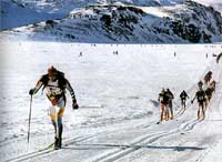
M200 81L198 83L198 85L199 85L199 90L195 92L195 95L194 95L193 100L191 100L191 103L193 103L193 101L195 99L198 99L198 103L199 103L198 119L201 119L201 113L202 113L202 120L204 120L208 99L206 99L206 93L202 88L203 87L203 82Z

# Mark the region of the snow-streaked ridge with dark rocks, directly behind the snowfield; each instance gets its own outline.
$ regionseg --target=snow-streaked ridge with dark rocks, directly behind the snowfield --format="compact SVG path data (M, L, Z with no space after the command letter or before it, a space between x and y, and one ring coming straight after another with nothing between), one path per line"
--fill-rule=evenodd
M64 19L16 31L36 40L44 37L91 43L218 42L222 41L222 17L212 7L193 1L159 8L89 6Z

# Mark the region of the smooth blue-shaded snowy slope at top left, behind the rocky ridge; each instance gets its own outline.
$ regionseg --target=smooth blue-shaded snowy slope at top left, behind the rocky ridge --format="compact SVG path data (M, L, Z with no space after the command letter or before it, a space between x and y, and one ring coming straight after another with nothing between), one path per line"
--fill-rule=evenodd
M161 6L174 3L173 0L1 0L0 29L11 29L48 19L59 19L77 8L90 4L125 3L132 6Z

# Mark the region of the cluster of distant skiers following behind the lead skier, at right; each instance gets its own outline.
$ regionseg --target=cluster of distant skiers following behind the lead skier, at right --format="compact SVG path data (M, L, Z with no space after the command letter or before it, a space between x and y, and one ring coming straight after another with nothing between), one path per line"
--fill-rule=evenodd
M204 83L202 81L199 81L198 83L198 91L195 92L194 98L191 100L191 103L194 102L194 100L198 100L199 103L199 110L198 110L198 119L201 119L202 114L202 120L205 118L205 110L206 107L209 105L209 102L212 98L213 92L215 91L215 81L212 80L212 72L209 71L204 78ZM203 84L205 84L205 89L203 89ZM173 93L170 91L170 89L162 89L161 92L159 93L159 102L160 102L160 122L165 120L168 121L169 119L173 120L173 104L172 100L174 99ZM185 111L185 104L186 104L186 99L189 99L188 93L185 90L183 90L180 93L180 99L181 99L181 108Z

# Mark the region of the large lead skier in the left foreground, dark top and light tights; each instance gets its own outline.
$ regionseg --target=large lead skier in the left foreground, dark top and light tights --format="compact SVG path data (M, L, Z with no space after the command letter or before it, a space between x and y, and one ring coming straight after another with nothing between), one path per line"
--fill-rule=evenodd
M65 107L65 89L70 91L72 97L72 108L78 109L79 105L75 100L74 91L64 78L64 73L58 71L51 67L48 69L48 73L43 74L37 82L36 87L29 91L30 95L36 94L40 88L46 88L47 98L50 101L49 114L54 126L54 149L60 149L62 145L62 115Z

